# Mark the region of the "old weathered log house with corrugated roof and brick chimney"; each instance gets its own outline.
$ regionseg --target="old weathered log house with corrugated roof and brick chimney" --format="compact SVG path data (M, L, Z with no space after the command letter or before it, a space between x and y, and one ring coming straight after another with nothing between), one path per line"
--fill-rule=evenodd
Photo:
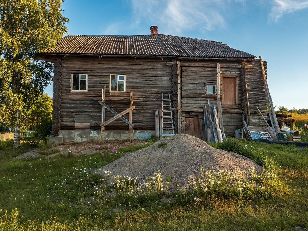
M114 116L99 100L118 113L135 106L123 116L133 128L117 119L103 132L132 128L134 134L155 135L162 93L170 93L175 133L201 138L203 106L208 100L217 105L217 90L226 136L243 127L242 114L246 120L249 115L250 126L266 126L257 112L257 107L266 111L260 59L216 41L158 34L157 26L151 26L149 35L67 35L36 59L54 63L54 136L77 130L99 133L100 125ZM266 72L267 63L263 65Z

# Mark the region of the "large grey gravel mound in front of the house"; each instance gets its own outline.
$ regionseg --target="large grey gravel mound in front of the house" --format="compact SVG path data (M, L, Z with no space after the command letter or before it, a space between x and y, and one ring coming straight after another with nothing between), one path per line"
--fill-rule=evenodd
M159 148L158 145L162 142L167 147ZM201 165L205 170L210 168L215 171L245 169L248 173L248 169L252 167L257 172L262 171L260 165L244 156L213 148L197 137L179 134L123 156L95 172L104 175L104 171L109 170L111 182L113 176L120 175L139 177L142 183L147 176L154 176L154 173L161 170L163 180L172 177L168 189L174 191L177 184L184 186L191 176L199 176Z

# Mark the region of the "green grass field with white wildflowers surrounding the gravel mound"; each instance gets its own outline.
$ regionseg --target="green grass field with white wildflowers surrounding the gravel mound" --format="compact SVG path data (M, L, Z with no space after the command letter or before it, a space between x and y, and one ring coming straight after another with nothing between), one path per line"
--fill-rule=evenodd
M24 142L18 150L12 150L10 142L1 142L0 230L308 228L308 149L239 142L245 156L263 165L271 162L271 168L277 170L277 179L272 179L275 184L259 182L268 191L249 197L227 195L230 185L213 184L206 193L195 190L168 194L153 190L136 195L129 191L133 184L122 181L128 190L116 192L117 188L109 188L107 176L101 180L102 176L92 174L91 169L97 163L107 164L144 146L118 148L113 156L102 156L100 150L87 156L59 155L50 159L47 167L43 156L33 160L12 159L35 147L35 142Z

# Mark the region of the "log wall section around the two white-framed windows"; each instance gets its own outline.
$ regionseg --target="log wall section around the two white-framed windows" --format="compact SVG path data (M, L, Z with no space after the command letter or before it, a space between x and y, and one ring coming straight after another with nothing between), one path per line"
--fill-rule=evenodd
M168 61L168 60L167 60ZM88 75L87 92L71 92L71 74ZM171 91L171 67L166 60L68 56L62 59L61 129L75 128L75 114L90 115L90 128L100 129L101 90L106 85L106 103L117 112L129 107L129 101L111 100L109 75L126 75L126 92L133 92L132 123L136 129L155 129L155 111L161 109L161 95ZM129 93L126 99L129 99ZM105 120L113 114L106 109ZM128 119L128 114L124 115ZM128 124L115 120L106 129L128 129Z

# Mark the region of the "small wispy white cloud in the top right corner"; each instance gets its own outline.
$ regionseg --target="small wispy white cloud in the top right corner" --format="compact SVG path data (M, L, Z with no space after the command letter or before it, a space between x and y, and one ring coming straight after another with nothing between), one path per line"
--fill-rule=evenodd
M298 10L308 8L308 1L299 0L274 0L272 12L270 14L270 21L277 22L283 14L292 13Z

